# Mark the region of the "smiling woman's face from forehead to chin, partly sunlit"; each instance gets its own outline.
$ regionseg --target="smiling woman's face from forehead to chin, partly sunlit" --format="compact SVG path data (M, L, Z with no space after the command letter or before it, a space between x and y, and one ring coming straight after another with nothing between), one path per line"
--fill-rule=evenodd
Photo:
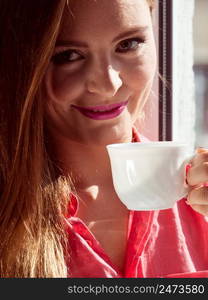
M146 0L72 0L46 87L51 132L104 145L131 137L156 66Z

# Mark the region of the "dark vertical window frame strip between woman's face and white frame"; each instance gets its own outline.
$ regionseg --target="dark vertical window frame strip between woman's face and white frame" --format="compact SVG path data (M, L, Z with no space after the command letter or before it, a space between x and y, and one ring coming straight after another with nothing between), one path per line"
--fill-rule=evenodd
M159 0L159 141L171 141L172 134L172 47L173 3Z

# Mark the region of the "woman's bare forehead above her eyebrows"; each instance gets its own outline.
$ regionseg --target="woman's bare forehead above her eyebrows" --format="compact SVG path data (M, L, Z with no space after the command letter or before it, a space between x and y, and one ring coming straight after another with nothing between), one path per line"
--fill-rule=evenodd
M72 0L65 10L60 36L100 35L150 25L146 0Z

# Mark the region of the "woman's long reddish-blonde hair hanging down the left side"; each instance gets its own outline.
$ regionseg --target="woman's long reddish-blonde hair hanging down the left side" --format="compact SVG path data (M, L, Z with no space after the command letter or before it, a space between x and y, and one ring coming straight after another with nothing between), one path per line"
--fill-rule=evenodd
M0 277L68 274L70 182L50 156L41 93L66 5L0 0Z

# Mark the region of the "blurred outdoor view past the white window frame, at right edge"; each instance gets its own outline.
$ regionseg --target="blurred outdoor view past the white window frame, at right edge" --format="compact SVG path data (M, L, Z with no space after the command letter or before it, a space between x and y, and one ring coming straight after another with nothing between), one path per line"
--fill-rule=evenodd
M208 148L208 0L195 0L193 44L195 143Z

